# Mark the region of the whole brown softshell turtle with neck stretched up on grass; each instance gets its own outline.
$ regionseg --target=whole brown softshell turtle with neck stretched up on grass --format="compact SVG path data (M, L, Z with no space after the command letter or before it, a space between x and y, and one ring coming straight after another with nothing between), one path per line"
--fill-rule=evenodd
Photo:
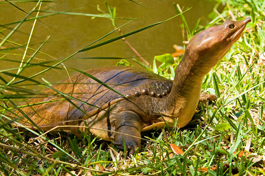
M203 78L226 55L250 21L250 18L238 22L227 20L192 37L175 69L174 80L128 66L93 68L85 72L127 98L85 74L77 73L70 77L72 83L65 79L52 88L80 101L65 96L64 99L58 91L46 88L42 91L46 94L45 97L36 96L27 103L49 103L24 107L21 110L44 130L59 125L76 125L80 127L69 126L62 129L79 135L78 130L85 131L81 127L85 126L85 120L91 127L91 133L99 134L104 140L113 141L119 148L123 149L124 139L127 150L132 154L137 147L140 149L140 139L132 136L140 137L141 131L155 127L161 129L165 122L173 127L175 119L176 125L181 128L191 121L199 99L213 99L213 95L201 94ZM16 113L21 116L19 123L35 128L18 111Z

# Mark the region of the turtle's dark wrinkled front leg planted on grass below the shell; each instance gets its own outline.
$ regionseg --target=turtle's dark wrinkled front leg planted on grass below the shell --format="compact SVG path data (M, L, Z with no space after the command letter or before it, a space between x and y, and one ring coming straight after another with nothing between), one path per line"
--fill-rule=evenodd
M142 120L138 116L138 114L132 111L122 112L118 116L119 118L115 126L115 131L120 132L122 134L115 134L115 141L113 141L113 144L116 145L119 149L123 150L122 139L124 139L127 151L130 152L129 154L134 154L135 150L138 147L139 150L141 149L141 139L132 136L141 137ZM127 136L124 134L129 134L131 136Z

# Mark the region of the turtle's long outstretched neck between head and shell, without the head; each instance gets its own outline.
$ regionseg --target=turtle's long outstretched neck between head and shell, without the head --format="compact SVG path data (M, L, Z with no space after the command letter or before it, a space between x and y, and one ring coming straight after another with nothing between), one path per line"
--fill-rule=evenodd
M194 53L185 52L175 69L175 78L170 94L163 100L165 107L161 114L179 118L178 124L181 124L183 116L191 118L195 113L203 78L212 68L210 65L198 63L198 57L200 56ZM183 123L186 122L185 119Z

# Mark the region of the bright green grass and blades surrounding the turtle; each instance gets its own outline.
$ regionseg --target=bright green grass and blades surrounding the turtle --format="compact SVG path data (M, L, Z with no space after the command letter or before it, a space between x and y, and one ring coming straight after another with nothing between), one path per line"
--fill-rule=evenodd
M218 3L221 2L218 1ZM69 59L78 52L119 40L156 24L96 45L93 45L93 42L60 62L55 64L44 63L52 64L52 67L48 67L43 72L29 78L21 76L20 73L28 67L45 66L43 63L31 63L32 58L39 52L42 45L37 50L33 50L29 45L15 44L16 47L23 48L25 53L27 50L33 50L33 54L31 57L21 56L21 64L19 68L16 68L16 73L13 70L0 70L0 175L57 176L64 175L66 172L70 175L75 173L86 176L140 174L265 175L265 57L263 55L265 46L265 3L264 1L250 0L224 2L226 7L219 16L215 11L211 14L213 19L211 24L220 24L223 22L222 19L235 18L236 20L242 20L249 16L252 22L247 25L239 41L210 71L203 82L203 91L215 94L218 96L218 100L213 105L206 104L200 114L196 114L191 123L183 129L166 128L161 132L155 129L151 132L144 132L142 137L153 142L142 141L142 150L134 156L126 157L123 151L117 150L110 142L96 139L91 134L77 140L72 134L48 133L39 136L41 132L32 131L35 135L30 138L25 136L22 131L16 132L10 129L10 126L3 119L11 111L11 106L16 106L14 102L17 100L24 101L24 98L39 93L29 89L19 89L16 87L18 83L22 83L24 80L34 80L35 76L52 67L57 68L62 61ZM37 2L32 11L38 9L39 4L42 3ZM112 24L115 26L113 19L115 10L107 9L109 15L104 15L104 17L112 19ZM176 10L176 13L180 12L177 7ZM29 15L30 13L27 16ZM53 15L53 13L49 15ZM98 17L97 14L94 17ZM185 13L181 17L184 22L183 26L187 30L187 40L196 32L209 26L200 27L198 23L190 30L185 22ZM31 18L37 20L35 17ZM25 20L28 19L25 18L17 22L16 25L19 27ZM16 29L15 27L1 40L0 46L10 40ZM1 33L3 32L5 32L5 29L1 31ZM43 42L43 45L45 44L46 41ZM16 49L16 47L13 49ZM9 50L13 49L9 48ZM6 49L0 50L0 52L2 53L0 60L5 59ZM163 61L163 58L157 59ZM158 62L154 60L150 69L167 78L172 78L174 77L172 70L179 61L180 58L177 58L173 64L170 61L158 65ZM125 64L125 62L120 63ZM12 77L8 77L7 80L6 75ZM13 77L21 78L21 80L15 81L12 79ZM35 83L49 86L36 80ZM7 93L8 91L11 91L11 93ZM36 136L39 137L36 138ZM170 148L172 143L180 147L184 154L174 154Z

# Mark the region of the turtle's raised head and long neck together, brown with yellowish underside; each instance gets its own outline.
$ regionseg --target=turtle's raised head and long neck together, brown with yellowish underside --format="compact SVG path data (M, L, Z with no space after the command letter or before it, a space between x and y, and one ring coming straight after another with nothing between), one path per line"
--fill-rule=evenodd
M250 18L242 21L227 20L221 25L210 27L191 38L182 60L175 70L170 94L162 98L160 113L183 127L196 111L205 75L221 60L240 38Z

